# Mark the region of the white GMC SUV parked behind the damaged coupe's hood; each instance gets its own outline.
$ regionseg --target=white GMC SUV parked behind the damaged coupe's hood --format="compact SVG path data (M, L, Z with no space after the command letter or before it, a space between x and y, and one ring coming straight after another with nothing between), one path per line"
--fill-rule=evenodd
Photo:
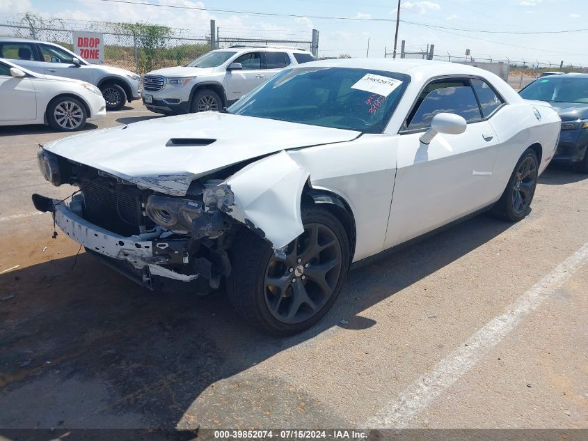
M143 103L164 115L221 110L289 65L314 61L310 52L292 47L216 49L175 68L143 77Z

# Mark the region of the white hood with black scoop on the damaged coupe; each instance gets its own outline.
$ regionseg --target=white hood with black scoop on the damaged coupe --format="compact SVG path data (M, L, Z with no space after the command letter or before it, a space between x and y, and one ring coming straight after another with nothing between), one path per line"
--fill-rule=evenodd
M280 150L351 141L352 130L203 112L76 134L43 148L170 195L192 180Z

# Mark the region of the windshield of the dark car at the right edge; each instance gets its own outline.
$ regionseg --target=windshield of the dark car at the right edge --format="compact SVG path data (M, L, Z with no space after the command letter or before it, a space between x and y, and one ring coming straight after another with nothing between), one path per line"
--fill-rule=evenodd
M588 78L550 75L532 82L520 95L525 100L588 102Z

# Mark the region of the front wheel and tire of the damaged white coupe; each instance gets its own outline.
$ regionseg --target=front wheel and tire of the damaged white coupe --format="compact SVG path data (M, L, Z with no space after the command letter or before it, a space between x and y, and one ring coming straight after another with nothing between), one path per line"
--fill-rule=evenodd
M305 232L287 246L285 258L250 230L235 240L229 300L267 334L298 334L315 325L337 300L347 275L349 242L341 222L314 206L302 208L302 222Z

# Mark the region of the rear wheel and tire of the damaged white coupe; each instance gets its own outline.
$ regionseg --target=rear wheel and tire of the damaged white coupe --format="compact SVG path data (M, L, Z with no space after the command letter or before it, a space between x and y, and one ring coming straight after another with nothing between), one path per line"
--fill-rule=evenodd
M531 212L538 169L537 154L532 148L527 148L516 163L504 193L492 208L493 215L518 222Z

